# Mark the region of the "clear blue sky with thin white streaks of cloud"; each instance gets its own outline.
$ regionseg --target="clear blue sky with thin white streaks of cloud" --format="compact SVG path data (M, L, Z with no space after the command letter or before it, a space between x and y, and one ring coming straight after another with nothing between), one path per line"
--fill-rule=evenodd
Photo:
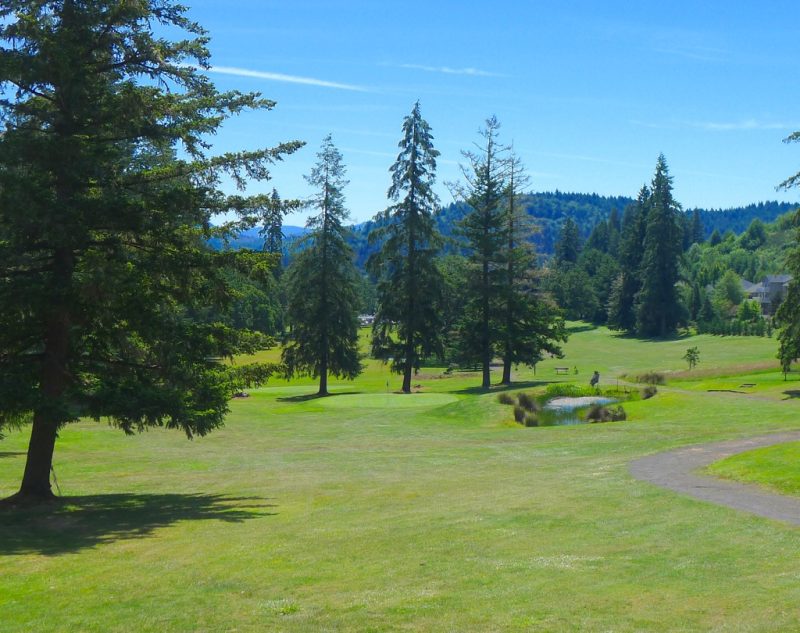
M443 203L460 151L492 114L536 191L635 196L663 152L686 208L800 194L775 191L800 170L800 144L781 142L800 130L796 2L187 4L210 32L218 87L277 101L226 123L215 148L306 141L261 187L303 197L330 132L353 221L387 205L388 168L417 99L441 152Z

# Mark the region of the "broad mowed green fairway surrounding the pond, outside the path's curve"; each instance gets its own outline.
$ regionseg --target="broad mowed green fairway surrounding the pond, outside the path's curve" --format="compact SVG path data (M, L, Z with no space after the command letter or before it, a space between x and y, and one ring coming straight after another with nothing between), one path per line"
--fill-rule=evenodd
M699 380L756 386L699 387L691 346ZM55 459L71 503L0 513L0 630L800 630L800 530L628 473L656 451L800 429L776 346L585 329L518 374L535 390L555 366L601 385L681 372L602 425L519 427L476 375L435 368L397 395L374 362L327 399L310 381L254 390L192 442L74 425ZM2 496L26 441L0 443Z

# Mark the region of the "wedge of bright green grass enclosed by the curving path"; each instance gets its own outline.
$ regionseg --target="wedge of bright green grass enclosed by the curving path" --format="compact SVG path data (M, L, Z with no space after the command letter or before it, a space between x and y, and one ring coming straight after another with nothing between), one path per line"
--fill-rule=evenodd
M800 495L800 442L739 453L711 464L707 470L717 477Z

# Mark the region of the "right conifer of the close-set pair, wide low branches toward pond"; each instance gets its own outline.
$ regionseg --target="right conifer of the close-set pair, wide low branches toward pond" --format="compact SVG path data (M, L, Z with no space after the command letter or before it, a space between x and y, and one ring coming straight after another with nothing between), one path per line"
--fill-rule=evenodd
M528 179L513 150L508 158L505 193L506 279L501 302L499 353L503 359L501 384L511 384L511 368L520 363L535 367L544 353L561 357L559 341L566 328L557 310L537 292L536 258L530 241L530 216L520 204Z

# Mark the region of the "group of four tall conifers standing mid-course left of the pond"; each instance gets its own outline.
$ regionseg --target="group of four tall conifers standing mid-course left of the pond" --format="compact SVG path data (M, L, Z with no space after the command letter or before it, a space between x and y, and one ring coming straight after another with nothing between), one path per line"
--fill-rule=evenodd
M379 247L367 269L375 284L372 354L403 376L404 393L427 360L474 364L489 388L496 357L501 382L509 384L512 366L558 355L566 340L563 320L540 287L530 222L519 204L524 169L499 143L499 129L488 119L480 149L464 153L463 182L452 185L469 209L457 228L463 253L444 257L434 222L439 152L419 103L403 121L389 169L391 204L370 232ZM364 279L346 240L344 166L330 136L308 181L318 191L309 202L317 215L283 277L289 329L282 358L288 376L318 377L325 395L329 373L353 378L361 370L357 317L364 305Z

